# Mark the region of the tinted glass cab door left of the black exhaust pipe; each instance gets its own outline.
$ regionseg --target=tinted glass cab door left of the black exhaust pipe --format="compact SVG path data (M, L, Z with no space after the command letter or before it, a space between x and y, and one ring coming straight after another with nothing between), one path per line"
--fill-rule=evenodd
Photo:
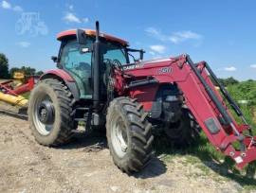
M61 51L61 65L77 82L81 98L92 98L92 52L93 41L87 40L86 44L78 44L77 40L68 40L63 43Z

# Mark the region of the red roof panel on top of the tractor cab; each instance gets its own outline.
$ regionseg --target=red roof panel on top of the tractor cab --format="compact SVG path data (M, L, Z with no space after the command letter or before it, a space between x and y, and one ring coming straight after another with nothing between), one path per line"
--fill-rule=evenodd
M92 30L92 29L83 29L83 30L84 30L85 34L88 35L88 36L95 36L96 35L95 30ZM57 35L57 40L62 41L62 39L64 39L65 37L75 36L76 33L77 33L77 29L69 29L69 30L63 31L63 32L61 32ZM104 38L108 41L118 42L119 44L122 44L124 46L129 45L129 43L127 41L124 41L124 40L119 39L117 37L114 37L112 35L108 35L106 33L101 33L100 37L102 37L102 38Z

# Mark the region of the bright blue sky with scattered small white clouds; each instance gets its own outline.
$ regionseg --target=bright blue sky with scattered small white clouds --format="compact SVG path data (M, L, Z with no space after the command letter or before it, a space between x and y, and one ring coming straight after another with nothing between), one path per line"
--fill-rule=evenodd
M256 79L254 0L0 0L0 52L9 66L55 68L70 28L95 28L146 50L145 59L188 53L219 78Z

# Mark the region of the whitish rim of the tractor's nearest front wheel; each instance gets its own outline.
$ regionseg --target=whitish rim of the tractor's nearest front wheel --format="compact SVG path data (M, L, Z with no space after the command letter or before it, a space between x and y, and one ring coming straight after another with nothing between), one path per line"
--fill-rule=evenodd
M124 157L128 149L127 130L121 116L112 121L111 140L114 150L119 158Z

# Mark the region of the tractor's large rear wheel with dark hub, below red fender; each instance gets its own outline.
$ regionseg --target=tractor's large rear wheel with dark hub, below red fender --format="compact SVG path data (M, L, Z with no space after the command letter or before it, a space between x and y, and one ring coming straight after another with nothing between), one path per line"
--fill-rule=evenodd
M71 92L58 79L44 79L32 90L28 121L39 144L59 146L71 139L72 130L77 128L77 122L71 117L73 103Z

